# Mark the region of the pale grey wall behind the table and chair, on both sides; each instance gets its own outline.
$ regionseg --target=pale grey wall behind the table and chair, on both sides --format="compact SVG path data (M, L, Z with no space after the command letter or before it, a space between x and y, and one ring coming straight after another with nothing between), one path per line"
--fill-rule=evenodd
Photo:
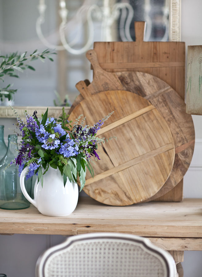
M5 0L0 0L0 4L2 1ZM202 44L201 12L201 0L182 0L182 41L186 42L186 48L188 45ZM184 177L184 197L202 198L202 117L193 116L193 120L196 145L192 164ZM13 119L0 118L0 124L5 125L6 138L12 133L7 127L12 128L14 122ZM0 236L0 273L8 277L34 277L35 263L40 253L63 239L60 235ZM185 251L182 263L184 277L201 277L201 262L202 251Z

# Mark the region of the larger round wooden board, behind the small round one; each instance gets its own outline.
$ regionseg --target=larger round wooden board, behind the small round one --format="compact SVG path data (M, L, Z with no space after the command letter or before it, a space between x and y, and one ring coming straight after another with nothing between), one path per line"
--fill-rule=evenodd
M194 151L194 125L191 115L186 114L186 105L183 99L167 83L153 75L142 72L106 72L100 67L94 50L89 50L86 56L93 65L94 78L88 86L84 81L76 84L81 94L73 103L70 113L84 99L82 94L85 93L96 94L104 90L115 89L128 90L149 100L165 118L175 143L175 162L171 175L150 200L166 194L185 175Z

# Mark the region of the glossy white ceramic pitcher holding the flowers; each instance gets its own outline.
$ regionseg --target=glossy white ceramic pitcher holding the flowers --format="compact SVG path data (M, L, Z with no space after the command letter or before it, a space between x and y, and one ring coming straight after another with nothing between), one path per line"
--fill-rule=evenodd
M60 170L52 167L43 175L43 187L41 180L35 182L34 199L28 195L24 178L27 172L27 167L24 168L20 175L20 187L23 195L33 204L40 213L48 216L64 216L70 215L76 208L78 202L78 186L77 183L70 182L67 178L67 183L64 187L63 176Z

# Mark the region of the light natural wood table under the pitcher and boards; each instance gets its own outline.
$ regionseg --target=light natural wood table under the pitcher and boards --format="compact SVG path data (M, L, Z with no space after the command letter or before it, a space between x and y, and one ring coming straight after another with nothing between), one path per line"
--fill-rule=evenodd
M183 261L184 250L202 250L202 199L114 207L81 197L76 210L63 217L44 216L32 205L23 210L0 209L1 234L77 235L91 232L148 237L152 243L169 251L179 263Z

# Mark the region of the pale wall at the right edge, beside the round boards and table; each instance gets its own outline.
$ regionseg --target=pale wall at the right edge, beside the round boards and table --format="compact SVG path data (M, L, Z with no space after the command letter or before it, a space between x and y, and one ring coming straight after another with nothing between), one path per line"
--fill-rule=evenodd
M188 45L202 44L202 1L182 0L182 41ZM196 143L192 163L184 176L184 197L202 198L202 117L192 116L195 127ZM184 277L202 276L202 251L185 251Z

